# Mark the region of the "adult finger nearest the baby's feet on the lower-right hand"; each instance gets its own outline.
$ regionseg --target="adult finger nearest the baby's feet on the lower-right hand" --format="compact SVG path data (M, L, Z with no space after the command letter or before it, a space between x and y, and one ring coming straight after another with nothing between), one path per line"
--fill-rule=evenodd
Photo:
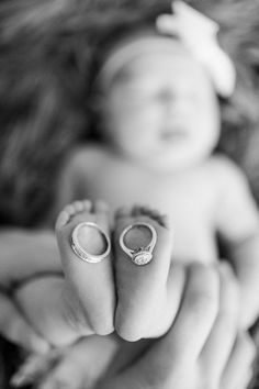
M211 332L218 309L217 271L192 264L179 314L161 338L115 379L105 380L103 388L182 388L187 371L198 362Z

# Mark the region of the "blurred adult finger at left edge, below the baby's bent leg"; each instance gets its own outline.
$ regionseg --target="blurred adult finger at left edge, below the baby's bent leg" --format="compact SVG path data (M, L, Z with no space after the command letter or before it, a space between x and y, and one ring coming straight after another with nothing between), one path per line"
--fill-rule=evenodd
M43 340L25 321L11 298L0 293L0 333L29 351L46 353L48 343Z

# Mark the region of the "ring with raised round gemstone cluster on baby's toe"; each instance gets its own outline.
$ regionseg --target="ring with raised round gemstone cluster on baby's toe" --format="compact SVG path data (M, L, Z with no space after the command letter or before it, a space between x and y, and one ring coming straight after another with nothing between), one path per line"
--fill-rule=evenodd
M130 248L125 245L125 236L133 229L147 229L150 233L150 242L146 246ZM153 225L144 222L136 222L123 230L120 236L120 246L126 253L135 265L147 265L153 259L153 251L157 243L157 232Z

